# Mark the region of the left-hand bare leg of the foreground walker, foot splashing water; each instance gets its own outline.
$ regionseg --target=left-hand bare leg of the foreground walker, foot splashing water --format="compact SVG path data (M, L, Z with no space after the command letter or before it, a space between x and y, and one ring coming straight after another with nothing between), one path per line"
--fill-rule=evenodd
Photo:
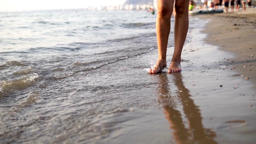
M170 34L171 16L173 11L173 0L158 0L158 10L156 18L156 37L158 45L158 60L154 68L148 72L156 74L166 67L166 51ZM188 9L187 9L188 11Z

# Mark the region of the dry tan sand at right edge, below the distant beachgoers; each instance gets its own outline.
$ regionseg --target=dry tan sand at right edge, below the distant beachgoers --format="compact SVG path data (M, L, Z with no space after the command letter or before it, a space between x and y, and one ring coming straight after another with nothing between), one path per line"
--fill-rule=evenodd
M203 31L206 41L235 55L226 59L227 68L256 84L256 8L199 17L211 19Z

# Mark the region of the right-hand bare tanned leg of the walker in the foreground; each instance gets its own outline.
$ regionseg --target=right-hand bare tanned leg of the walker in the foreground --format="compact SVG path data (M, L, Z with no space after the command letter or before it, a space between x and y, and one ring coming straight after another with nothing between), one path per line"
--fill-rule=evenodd
M188 32L188 3L188 0L174 2L174 53L168 73L181 71L181 53Z

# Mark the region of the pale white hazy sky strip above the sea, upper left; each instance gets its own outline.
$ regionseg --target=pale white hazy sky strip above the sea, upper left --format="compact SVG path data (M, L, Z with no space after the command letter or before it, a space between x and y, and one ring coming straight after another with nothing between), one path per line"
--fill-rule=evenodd
M0 11L115 6L126 0L0 0Z

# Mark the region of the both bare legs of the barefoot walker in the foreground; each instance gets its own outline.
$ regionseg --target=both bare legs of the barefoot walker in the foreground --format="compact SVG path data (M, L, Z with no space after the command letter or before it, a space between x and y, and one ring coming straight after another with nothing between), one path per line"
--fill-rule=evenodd
M156 17L156 40L158 60L148 73L156 74L163 70L166 64L166 52L170 34L171 16L174 12L174 53L168 73L181 71L181 53L188 33L188 0L158 0Z

